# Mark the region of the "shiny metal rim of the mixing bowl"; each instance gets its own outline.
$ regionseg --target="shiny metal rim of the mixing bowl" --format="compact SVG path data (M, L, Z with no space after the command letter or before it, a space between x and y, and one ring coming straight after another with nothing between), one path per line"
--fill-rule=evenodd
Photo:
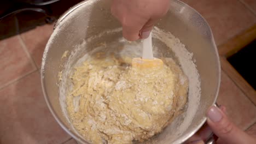
M60 22L62 22L63 20L65 20L65 18L71 14L74 10L78 9L79 7L81 7L82 5L91 2L92 0L85 0L82 2L79 2L78 4L75 4L73 7L69 8L65 13L63 13L60 18L56 21L55 25L54 25L54 29L56 27L59 26ZM178 3L183 5L186 8L189 8L191 10L193 10L195 13L197 13L199 16L202 17L203 21L206 23L206 26L209 28L210 33L211 33L211 39L212 39L212 43L213 43L213 47L214 47L214 55L216 55L217 58L217 69L218 69L218 83L217 83L217 89L216 89L216 93L215 93L215 97L213 100L212 105L216 104L217 98L218 98L218 93L219 93L219 88L220 88L220 76L221 76L221 69L220 69L220 59L219 59L219 54L218 54L218 49L216 46L216 43L214 41L214 37L213 37L213 33L212 33L212 29L210 27L210 25L208 24L208 22L205 20L205 18L199 13L197 12L194 8L191 8L188 4L185 4L184 2L181 2L179 0L170 0L171 2L174 3ZM52 37L52 35L51 35ZM51 38L50 37L50 38ZM46 47L48 46L48 44L46 45ZM45 49L44 53L43 53L43 61L47 58L46 55L48 53L48 49ZM86 140L83 139L83 137L81 137L78 134L73 133L73 131L69 130L69 128L67 128L65 126L65 124L61 121L61 119L59 118L59 116L57 116L56 112L53 110L53 106L50 103L50 100L48 98L48 94L46 92L46 88L45 88L45 79L44 79L44 67L45 67L45 63L42 63L42 67L40 69L40 79L41 79L41 86L42 86L42 90L43 90L43 94L44 94L44 99L46 101L46 104L51 112L51 114L54 116L55 120L57 121L57 123L61 126L62 129L64 129L69 135L71 135L75 140L77 140L80 143L90 143ZM194 129L190 130L187 134L179 136L178 139L174 140L173 143L183 143L186 140L188 140L191 136L193 136L201 127L203 124L205 124L206 122L206 117L203 117L200 120L200 123L198 125L196 125L196 127L194 127Z

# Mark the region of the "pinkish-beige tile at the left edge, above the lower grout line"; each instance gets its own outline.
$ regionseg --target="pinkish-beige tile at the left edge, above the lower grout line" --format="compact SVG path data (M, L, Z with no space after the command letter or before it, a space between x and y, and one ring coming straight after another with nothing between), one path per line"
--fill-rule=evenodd
M0 88L36 70L19 36L0 41L0 68Z

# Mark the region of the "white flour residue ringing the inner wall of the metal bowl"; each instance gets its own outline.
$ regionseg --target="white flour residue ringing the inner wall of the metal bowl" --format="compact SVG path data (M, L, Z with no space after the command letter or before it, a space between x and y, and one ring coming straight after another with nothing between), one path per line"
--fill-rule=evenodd
M86 53L86 55L84 55L80 59L76 59L77 56L79 56L79 53L82 49L87 49L86 46L88 45L88 43L90 41L92 41L94 39L98 39L98 38L102 37L103 35L108 35L108 34L112 34L112 33L120 33L120 31L121 31L121 28L113 29L112 31L102 32L94 37L91 37L91 38L85 40L82 44L77 45L73 51L68 52L69 56L67 56L68 59L67 59L66 63L64 64L64 69L62 71L62 81L60 82L60 103L61 103L62 111L63 111L65 117L67 118L68 122L69 122L69 118L68 118L67 111L66 111L66 93L67 93L68 89L71 88L68 85L68 83L70 83L70 81L68 80L68 77L69 77L69 75L72 75L72 70L73 70L74 65L79 65L82 62L84 62L85 59L89 58L88 57L89 53ZM56 32L57 31L55 31L55 33ZM173 139L174 139L174 137L181 135L189 127L189 125L190 125L191 121L193 120L194 115L197 111L197 108L200 103L200 97L201 97L200 76L196 69L194 60L193 60L193 53L190 53L185 48L185 45L183 45L178 38L175 38L171 33L164 32L161 29L156 28L156 27L154 28L154 31L153 31L153 38L158 39L159 41L161 41L161 43L164 43L169 49L171 49L171 51L176 56L178 63L181 65L181 67L184 71L184 74L187 75L188 79L189 79L189 94L188 94L187 111L183 114L184 119L181 118L181 119L183 119L183 121L178 122L179 123L178 126L175 123L176 124L176 126L174 126L175 129L172 129L172 131L175 130L175 132L173 132L174 133ZM135 42L130 43L130 42L124 40L123 38L121 38L121 39L118 39L118 43L124 44L123 50L120 52L120 55L127 55L127 53L128 54L130 53L129 55L139 56L141 53L141 49L140 49L141 46L136 45L137 43L135 43ZM96 47L93 51L100 51L100 50L104 49L104 47L106 47L106 45L115 45L115 44L114 43L107 44L107 43L104 43L104 41L103 41L101 43L101 45ZM46 47L48 47L48 46L46 46ZM114 47L114 46L112 46L112 47ZM44 52L47 53L48 50L45 50ZM158 47L154 47L154 53L156 53L156 52L158 52ZM44 55L44 56L46 56L46 55ZM42 67L45 64L44 59L45 59L45 57L43 58ZM181 83L182 83L182 81L181 81ZM120 82L120 86L117 87L117 89L121 89L123 85L124 85L124 83ZM129 121L127 121L127 123L129 123Z

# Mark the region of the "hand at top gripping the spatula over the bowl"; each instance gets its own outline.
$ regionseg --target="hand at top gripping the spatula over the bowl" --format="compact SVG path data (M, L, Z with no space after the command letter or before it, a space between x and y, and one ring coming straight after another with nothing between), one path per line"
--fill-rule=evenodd
M154 24L164 16L170 0L112 0L111 11L123 26L127 40L147 38Z

